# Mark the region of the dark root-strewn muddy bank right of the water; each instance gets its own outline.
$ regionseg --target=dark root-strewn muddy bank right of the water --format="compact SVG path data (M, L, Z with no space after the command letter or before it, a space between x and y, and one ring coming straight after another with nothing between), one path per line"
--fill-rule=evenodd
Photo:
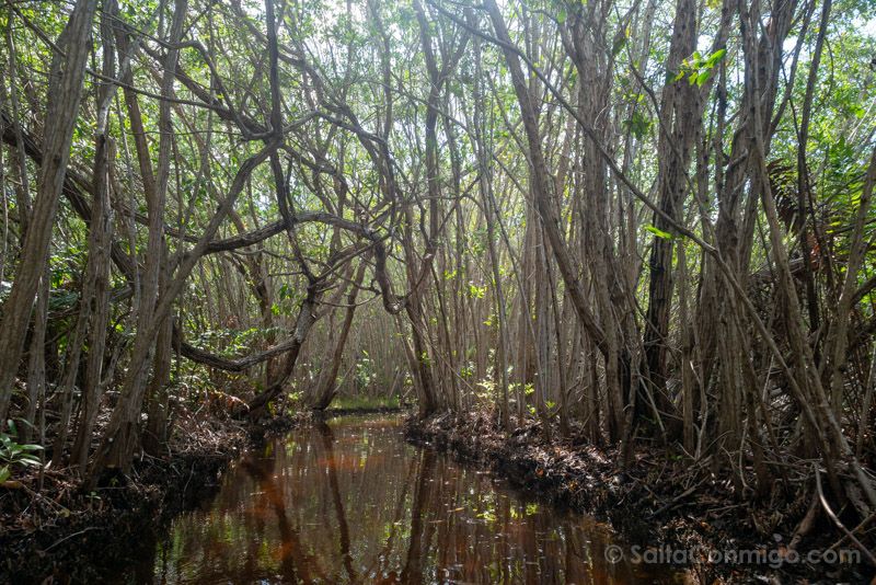
M752 509L728 495L719 475L683 473L690 471L689 462L668 461L656 450L637 452L633 463L621 470L616 449L575 440L548 443L537 423L507 436L485 416L412 417L405 434L412 443L491 469L543 501L608 521L639 547L643 558L646 550L652 551L650 559L658 551L691 551L683 563L672 562L668 553L664 558L666 564L687 566L693 583L867 583L874 574L860 560L783 562L808 502L765 502ZM839 538L829 527L816 526L796 550L803 555L827 549ZM754 564L714 562L725 551L759 551L763 557Z

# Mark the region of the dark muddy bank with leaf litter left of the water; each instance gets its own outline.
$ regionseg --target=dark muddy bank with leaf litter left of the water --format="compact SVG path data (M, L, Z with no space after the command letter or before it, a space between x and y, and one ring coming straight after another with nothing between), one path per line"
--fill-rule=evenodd
M38 491L36 473L21 478L0 490L0 583L91 583L120 570L175 514L210 498L249 440L240 425L200 421L124 483L89 491L71 470L48 470Z

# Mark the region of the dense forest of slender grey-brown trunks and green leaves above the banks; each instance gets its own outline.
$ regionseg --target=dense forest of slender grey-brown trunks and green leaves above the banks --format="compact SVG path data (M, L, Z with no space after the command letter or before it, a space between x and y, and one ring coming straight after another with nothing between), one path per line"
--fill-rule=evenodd
M865 523L874 18L4 2L0 482L393 395Z

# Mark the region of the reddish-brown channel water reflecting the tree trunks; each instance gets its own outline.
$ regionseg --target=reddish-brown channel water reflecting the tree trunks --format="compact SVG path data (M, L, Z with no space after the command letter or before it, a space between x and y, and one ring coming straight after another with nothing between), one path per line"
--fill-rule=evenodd
M151 583L667 580L609 563L612 544L590 518L406 444L396 416L345 416L244 456L215 500L173 521L151 575L137 572Z

